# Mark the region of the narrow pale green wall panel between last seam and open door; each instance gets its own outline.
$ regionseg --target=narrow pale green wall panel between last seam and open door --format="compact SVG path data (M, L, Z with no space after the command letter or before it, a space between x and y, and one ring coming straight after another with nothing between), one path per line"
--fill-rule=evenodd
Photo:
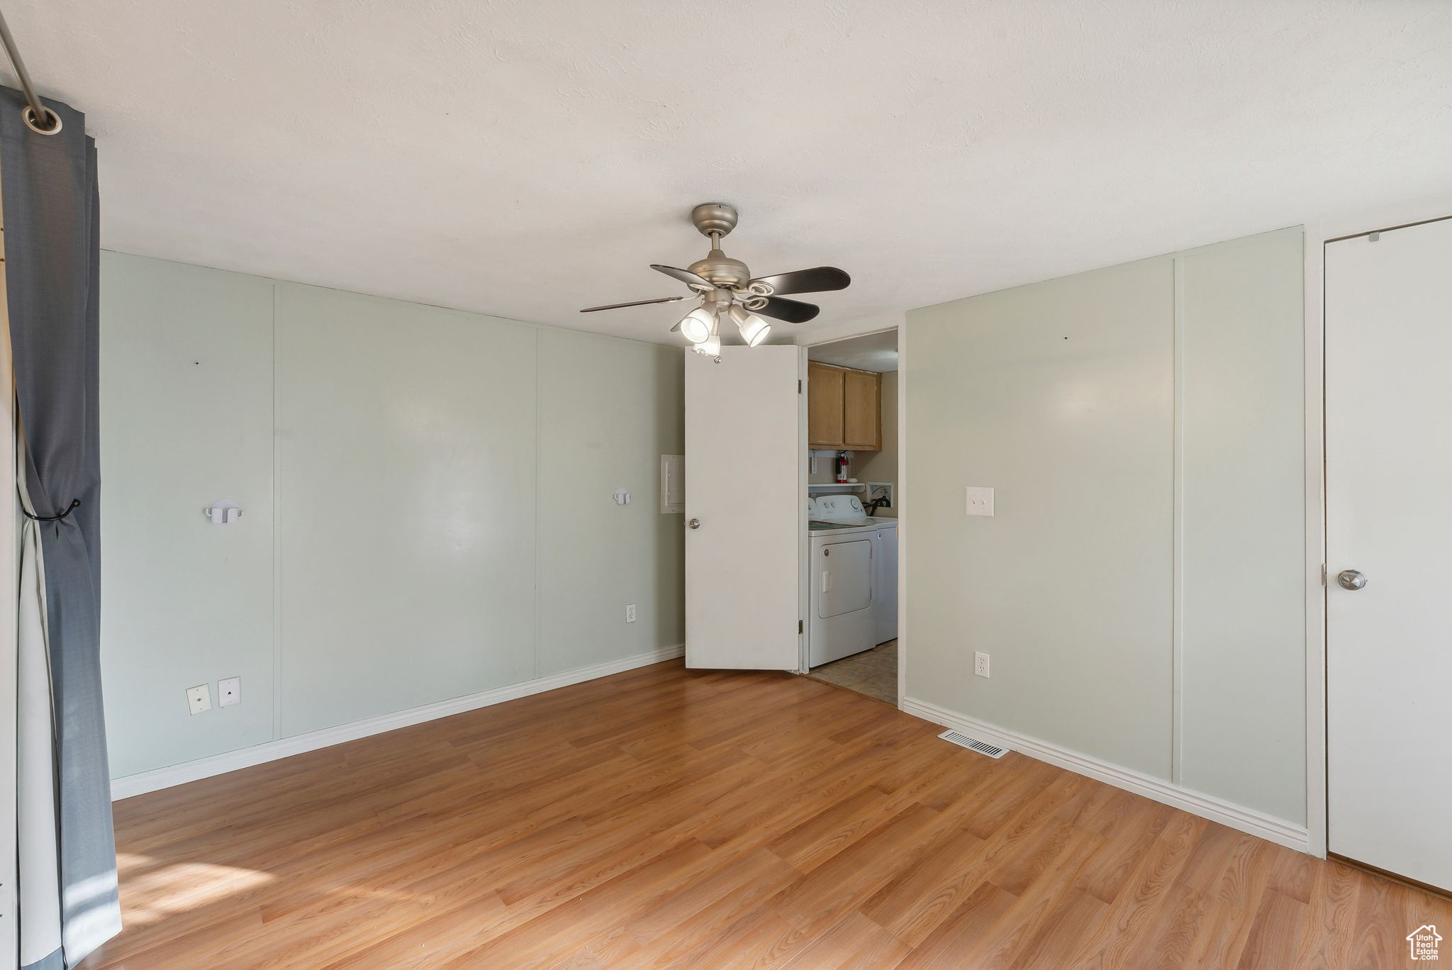
M549 362L539 382L540 441L549 444L539 462L536 603L544 677L684 639L684 515L661 514L659 462L685 453L685 388L672 347L537 333ZM610 498L619 488L632 492L629 505ZM629 624L627 603L637 617Z

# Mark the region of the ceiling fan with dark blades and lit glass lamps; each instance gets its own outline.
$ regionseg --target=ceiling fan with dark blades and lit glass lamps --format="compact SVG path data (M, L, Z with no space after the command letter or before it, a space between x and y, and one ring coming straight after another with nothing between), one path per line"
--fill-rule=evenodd
M711 251L706 254L706 258L691 263L684 270L659 263L650 264L650 269L690 286L688 295L587 306L579 312L594 314L600 309L698 299L700 306L687 314L681 322L671 328L671 333L680 330L681 335L691 341L691 349L696 353L714 357L722 350L719 328L723 318L736 324L748 347L755 347L771 331L771 324L758 314L788 324L804 324L820 312L815 303L787 299L784 293L822 293L847 289L847 285L852 282L851 276L835 266L752 277L745 263L722 253L722 237L736 228L735 208L720 202L707 202L691 209L691 222L701 235L711 241Z

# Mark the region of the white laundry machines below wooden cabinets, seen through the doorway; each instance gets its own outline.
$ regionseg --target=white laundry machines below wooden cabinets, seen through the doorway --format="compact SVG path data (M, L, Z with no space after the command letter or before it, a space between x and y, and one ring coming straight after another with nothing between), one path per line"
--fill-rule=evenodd
M877 646L881 611L889 603L896 627L896 562L892 582L881 566L884 534L890 533L896 553L897 520L868 515L855 495L816 495L807 500L807 533L812 546L807 662L820 667Z

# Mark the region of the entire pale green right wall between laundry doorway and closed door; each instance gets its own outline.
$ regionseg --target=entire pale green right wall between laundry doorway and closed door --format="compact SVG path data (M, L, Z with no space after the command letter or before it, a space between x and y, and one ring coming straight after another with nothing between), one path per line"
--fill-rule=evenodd
M906 327L908 697L1304 823L1301 231Z

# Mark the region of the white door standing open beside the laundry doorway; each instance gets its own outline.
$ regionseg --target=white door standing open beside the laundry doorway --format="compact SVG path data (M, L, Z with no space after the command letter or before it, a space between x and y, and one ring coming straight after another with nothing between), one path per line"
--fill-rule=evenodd
M802 347L685 354L685 665L800 667Z

